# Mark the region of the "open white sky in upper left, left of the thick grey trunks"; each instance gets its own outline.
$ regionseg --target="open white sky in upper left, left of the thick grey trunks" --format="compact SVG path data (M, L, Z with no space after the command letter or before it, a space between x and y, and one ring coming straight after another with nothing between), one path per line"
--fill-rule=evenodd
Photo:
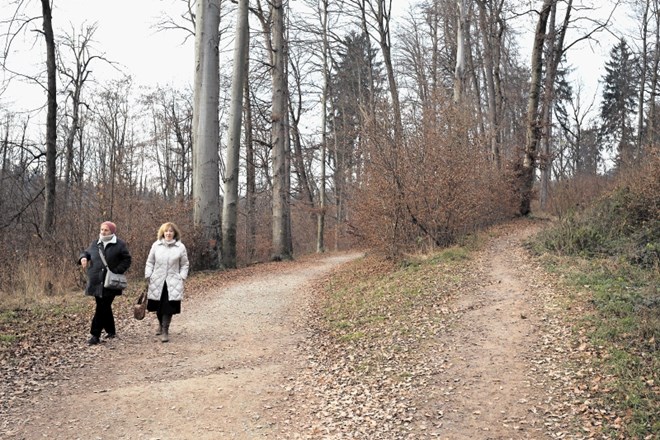
M0 16L7 17L7 12L13 12L15 7L4 4L4 1ZM154 28L164 10L181 9L180 0L55 0L54 3L56 38L72 30L79 32L83 24L96 23L95 54L117 63L122 71L134 77L136 86L173 84L183 87L192 82L193 40L183 44L184 31L157 32ZM31 0L26 14L40 16L41 3ZM177 12L170 15L177 17ZM34 37L30 34L15 42L21 50L11 54L10 67L22 73L43 70L45 55L36 56L34 51L45 49L43 45L31 48ZM103 62L95 61L92 71L100 80L120 77L119 72ZM10 108L33 108L43 105L45 92L34 85L14 81L8 93L0 99Z

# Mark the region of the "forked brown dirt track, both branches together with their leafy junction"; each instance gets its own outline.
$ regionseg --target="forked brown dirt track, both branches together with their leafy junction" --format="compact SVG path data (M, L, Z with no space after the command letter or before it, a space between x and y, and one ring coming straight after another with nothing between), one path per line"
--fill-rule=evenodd
M0 439L587 438L555 283L522 247L537 228L501 228L465 264L408 385L340 386L346 365L318 365L311 286L360 257L329 254L230 271L184 300L169 343L152 315L98 346L81 329L47 386L0 413Z

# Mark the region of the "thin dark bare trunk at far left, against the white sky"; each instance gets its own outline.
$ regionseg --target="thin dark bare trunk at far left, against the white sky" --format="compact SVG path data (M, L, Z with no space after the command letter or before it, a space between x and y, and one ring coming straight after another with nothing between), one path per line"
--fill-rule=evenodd
M46 38L46 71L48 74L48 111L46 114L46 190L41 233L49 236L55 226L55 185L57 182L57 72L55 36L50 0L41 0L44 37Z

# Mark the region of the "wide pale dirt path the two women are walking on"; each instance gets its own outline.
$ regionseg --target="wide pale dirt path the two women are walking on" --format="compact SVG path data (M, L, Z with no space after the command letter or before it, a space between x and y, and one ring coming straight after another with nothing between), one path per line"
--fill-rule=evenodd
M184 304L169 343L154 317L116 340L68 380L17 408L7 438L258 439L286 399L287 353L302 288L357 254L334 256L244 279Z

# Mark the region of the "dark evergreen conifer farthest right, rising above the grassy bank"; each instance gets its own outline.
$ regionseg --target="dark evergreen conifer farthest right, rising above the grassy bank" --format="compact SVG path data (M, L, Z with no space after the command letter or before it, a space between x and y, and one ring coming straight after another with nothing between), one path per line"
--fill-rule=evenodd
M624 38L610 51L603 77L601 139L617 153L617 165L634 159L633 117L637 107L636 61Z

